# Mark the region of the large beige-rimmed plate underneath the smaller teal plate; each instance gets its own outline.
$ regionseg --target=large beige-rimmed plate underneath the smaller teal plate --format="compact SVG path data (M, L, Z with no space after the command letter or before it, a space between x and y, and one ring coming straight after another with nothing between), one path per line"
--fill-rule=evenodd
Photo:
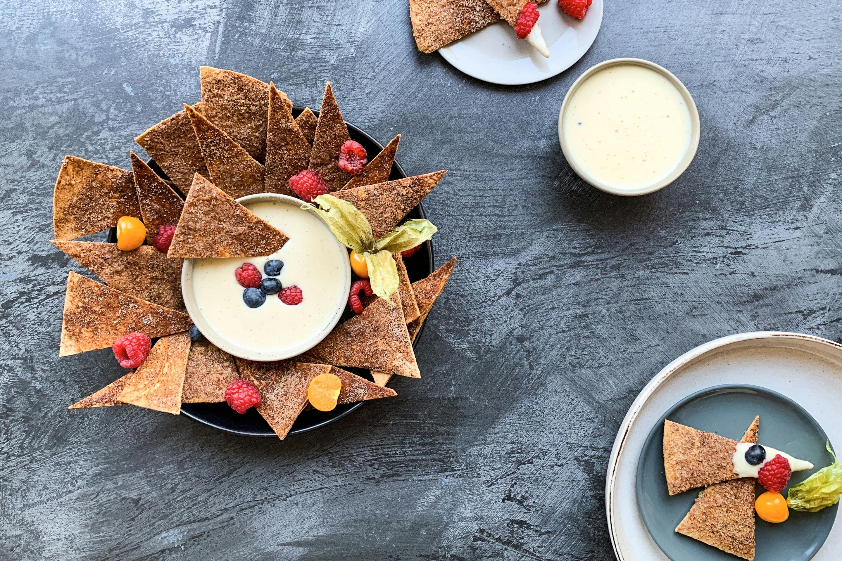
M722 337L685 352L643 388L611 450L605 511L611 543L621 561L668 559L649 536L638 510L638 459L665 411L690 394L722 384L771 389L801 405L831 439L842 431L842 345L817 336L755 331ZM762 438L762 419L760 427ZM837 519L814 559L835 560L839 551L842 524Z

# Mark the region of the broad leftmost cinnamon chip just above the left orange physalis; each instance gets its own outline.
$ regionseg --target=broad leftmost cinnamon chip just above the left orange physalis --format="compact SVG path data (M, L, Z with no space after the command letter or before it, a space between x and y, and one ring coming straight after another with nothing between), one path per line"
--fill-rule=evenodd
M121 216L141 218L131 172L76 156L64 156L53 191L56 240L108 230Z

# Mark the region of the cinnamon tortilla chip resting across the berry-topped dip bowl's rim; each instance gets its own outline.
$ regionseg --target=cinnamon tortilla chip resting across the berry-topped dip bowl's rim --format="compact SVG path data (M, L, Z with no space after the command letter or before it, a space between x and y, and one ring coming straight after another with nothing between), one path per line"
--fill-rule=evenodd
M169 257L271 255L288 237L198 173L184 202Z

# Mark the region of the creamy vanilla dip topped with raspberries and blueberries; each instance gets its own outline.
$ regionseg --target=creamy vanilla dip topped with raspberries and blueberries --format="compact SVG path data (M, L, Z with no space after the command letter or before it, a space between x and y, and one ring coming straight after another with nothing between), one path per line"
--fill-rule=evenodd
M301 201L274 197L279 198L244 204L289 236L279 251L267 257L193 260L193 297L211 332L205 333L201 326L200 331L215 344L214 339L221 338L217 347L232 343L239 350L232 354L255 360L306 351L321 340L314 337L322 331L322 337L327 335L348 299L348 251L316 214L301 209ZM266 278L264 263L272 259L284 262L277 277L280 283L301 288L303 300L292 306L281 302L278 294L267 294L263 305L249 308L234 271L249 262Z

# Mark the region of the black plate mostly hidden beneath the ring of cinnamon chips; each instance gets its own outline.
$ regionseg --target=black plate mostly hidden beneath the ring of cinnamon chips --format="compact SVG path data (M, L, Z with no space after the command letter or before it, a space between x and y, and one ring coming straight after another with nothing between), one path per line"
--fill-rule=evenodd
M302 107L293 107L292 113L297 117L303 110L304 108ZM318 116L318 111L313 111L313 113ZM351 139L356 140L365 147L365 151L368 152L369 161L379 154L381 150L383 150L383 145L381 145L381 143L377 140L374 140L370 135L367 135L363 130L360 130L347 121L345 124L348 125L348 132ZM167 177L161 168L157 167L155 161L149 161L149 165L161 177ZM389 176L389 179L402 179L403 177L407 177L407 174L403 171L403 168L396 160L392 166L392 174ZM412 211L407 215L407 218L425 218L424 209L420 204L418 204L418 206L412 209ZM109 233L109 241L116 241L116 230L113 228ZM413 255L413 257L410 257L406 261L409 280L414 283L415 281L427 277L430 273L433 273L433 263L433 245L427 241L423 246L421 246L415 255ZM344 319L346 318L343 318L343 320ZM421 340L421 333L423 331L424 328L422 327L421 331L418 332L418 337L416 337L414 345L418 345L418 341ZM360 368L347 368L347 370L364 378L371 379L371 375L368 370ZM328 423L332 423L333 421L337 421L345 415L348 415L351 411L357 409L360 405L363 405L363 403L364 402L337 405L336 409L328 412L317 410L304 411L298 416L298 419L296 419L296 423L292 426L290 434L312 431L320 426L328 425ZM247 437L277 438L277 435L275 435L274 431L269 427L269 424L267 424L266 421L264 421L264 418L254 409L250 409L244 415L240 415L237 411L232 410L232 408L226 403L185 403L181 406L181 412L190 419L199 421L200 423L205 423L205 425L212 426L220 431L232 432L233 434Z

